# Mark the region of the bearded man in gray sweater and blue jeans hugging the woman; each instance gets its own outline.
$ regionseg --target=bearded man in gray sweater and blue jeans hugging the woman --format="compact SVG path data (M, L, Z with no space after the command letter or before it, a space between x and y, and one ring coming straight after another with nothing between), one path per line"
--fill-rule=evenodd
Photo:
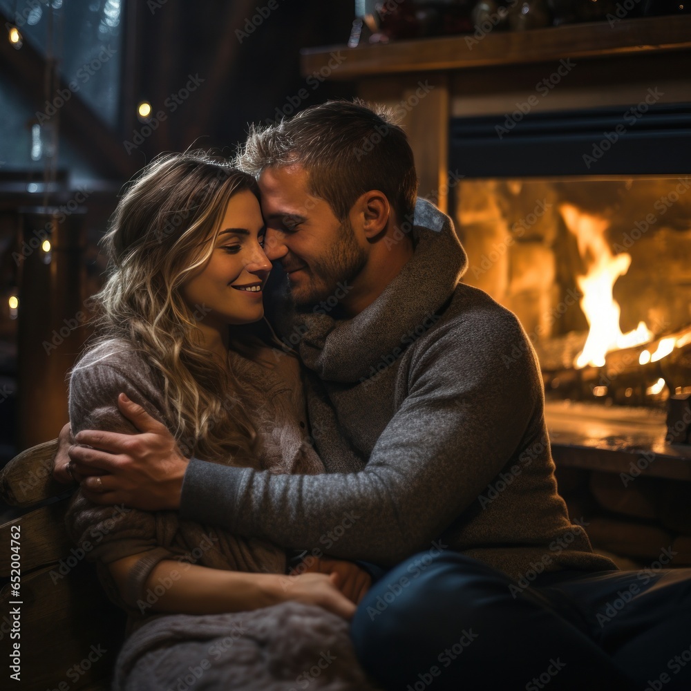
M446 216L415 205L403 131L359 104L329 103L253 131L239 160L258 176L265 251L287 275L295 310L279 320L281 337L312 375L312 437L329 472L188 461L162 426L122 404L144 434L82 432L77 441L93 448L70 451L79 472L110 473L84 480L89 497L180 509L390 569L352 628L385 688L658 679L678 651L639 635L642 607L630 603L601 630L595 622L636 574L612 571L569 521L535 354L513 314L459 283L465 254ZM639 601L662 591L669 600L674 585L657 580ZM672 625L681 636L684 618Z

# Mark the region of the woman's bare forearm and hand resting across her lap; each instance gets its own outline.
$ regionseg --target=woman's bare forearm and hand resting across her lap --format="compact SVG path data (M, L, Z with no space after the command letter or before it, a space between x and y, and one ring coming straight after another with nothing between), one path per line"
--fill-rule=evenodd
M287 600L318 605L329 612L350 619L355 605L336 587L332 574L249 574L165 559L149 572L140 599L129 595L131 571L141 554L125 557L108 565L120 596L144 614L177 612L179 614L221 614L247 612ZM143 599L142 599L143 598Z

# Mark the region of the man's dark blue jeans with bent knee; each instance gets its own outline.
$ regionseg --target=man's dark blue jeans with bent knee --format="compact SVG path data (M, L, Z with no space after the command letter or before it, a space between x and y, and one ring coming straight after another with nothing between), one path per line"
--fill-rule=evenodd
M522 587L425 553L372 586L352 639L390 691L688 691L691 569L560 571Z

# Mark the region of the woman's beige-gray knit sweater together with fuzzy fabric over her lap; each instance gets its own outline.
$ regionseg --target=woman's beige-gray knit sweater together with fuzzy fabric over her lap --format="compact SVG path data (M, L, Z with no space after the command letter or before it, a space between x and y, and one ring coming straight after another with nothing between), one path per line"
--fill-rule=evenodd
M294 357L277 354L266 368L231 352L231 366L246 389L247 407L258 434L255 469L268 473L323 471L306 443L303 388ZM124 391L167 424L162 410L162 382L146 358L126 341L109 341L89 351L70 379L70 422L81 429L133 433L117 410ZM237 395L237 394L236 394ZM232 460L228 459L231 463ZM209 466L213 465L208 463ZM111 597L129 609L131 635L115 665L114 691L149 691L180 687L191 670L203 669L204 688L238 691L291 691L319 666L323 691L376 691L355 659L348 624L315 605L287 602L249 612L193 616L152 614L158 595L144 591L151 569L162 559L217 569L285 572L285 551L268 540L242 538L223 529L180 520L175 511L134 511L97 507L77 491L67 516L68 530L88 557L96 560ZM132 570L130 596L140 607L122 602L108 563L140 554ZM201 665L201 666L200 666ZM196 688L201 688L197 685Z

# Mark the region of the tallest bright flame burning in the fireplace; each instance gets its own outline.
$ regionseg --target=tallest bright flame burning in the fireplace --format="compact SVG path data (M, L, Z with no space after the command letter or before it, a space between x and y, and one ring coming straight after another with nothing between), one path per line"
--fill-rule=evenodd
M567 228L576 236L578 252L587 266L587 274L579 276L576 281L583 293L580 306L590 331L574 364L577 368L586 365L602 367L608 352L647 343L654 334L642 321L636 329L625 334L619 328L621 310L612 297L612 288L616 279L629 270L631 255L625 252L615 255L609 249L605 238L609 222L585 214L570 204L561 205L559 210Z

